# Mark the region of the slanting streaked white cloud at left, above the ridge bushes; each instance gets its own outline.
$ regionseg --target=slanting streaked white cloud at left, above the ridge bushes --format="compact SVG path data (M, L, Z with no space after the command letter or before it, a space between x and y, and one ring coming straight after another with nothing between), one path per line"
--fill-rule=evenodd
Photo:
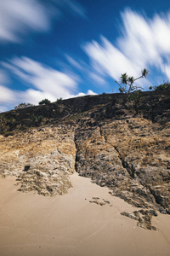
M77 83L69 75L27 57L14 58L10 63L3 62L3 66L23 82L48 95L51 101L57 97L64 98L77 89Z

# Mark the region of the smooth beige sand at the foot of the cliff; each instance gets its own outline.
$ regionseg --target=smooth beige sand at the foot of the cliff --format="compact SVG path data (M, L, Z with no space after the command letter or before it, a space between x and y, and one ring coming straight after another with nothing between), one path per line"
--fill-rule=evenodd
M170 216L159 214L157 231L137 227L122 211L136 208L90 179L71 176L63 196L21 193L14 177L0 178L0 255L170 255ZM89 201L110 201L99 206Z

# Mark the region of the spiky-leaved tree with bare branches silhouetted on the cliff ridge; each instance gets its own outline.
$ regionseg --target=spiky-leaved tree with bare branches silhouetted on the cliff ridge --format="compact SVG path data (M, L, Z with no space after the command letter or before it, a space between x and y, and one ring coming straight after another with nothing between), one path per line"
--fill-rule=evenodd
M136 78L136 79L134 79L133 77L128 77L127 73L123 73L122 76L121 76L121 82L118 83L116 81L116 84L119 85L119 91L129 93L129 92L132 92L134 90L139 90L139 89L144 90L142 87L134 85L133 83L138 79L146 78L148 73L149 73L149 70L144 68L144 70L142 70L142 72L141 72L141 76L139 76L139 78Z

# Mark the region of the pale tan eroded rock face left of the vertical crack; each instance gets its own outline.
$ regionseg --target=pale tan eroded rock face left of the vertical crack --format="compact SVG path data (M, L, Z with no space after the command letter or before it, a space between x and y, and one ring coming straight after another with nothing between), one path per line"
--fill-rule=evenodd
M65 136L66 134L66 136ZM0 172L14 175L20 191L63 195L71 188L75 169L74 132L66 127L32 129L14 137L1 137Z

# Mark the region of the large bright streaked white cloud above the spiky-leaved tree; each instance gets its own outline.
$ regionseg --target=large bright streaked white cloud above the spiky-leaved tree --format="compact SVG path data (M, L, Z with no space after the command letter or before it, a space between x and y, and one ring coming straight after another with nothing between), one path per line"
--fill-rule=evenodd
M122 73L138 77L144 67L156 67L169 78L169 65L162 63L170 54L170 13L148 19L126 9L122 21L122 37L117 38L115 45L101 37L101 42L82 46L95 70L119 79Z

